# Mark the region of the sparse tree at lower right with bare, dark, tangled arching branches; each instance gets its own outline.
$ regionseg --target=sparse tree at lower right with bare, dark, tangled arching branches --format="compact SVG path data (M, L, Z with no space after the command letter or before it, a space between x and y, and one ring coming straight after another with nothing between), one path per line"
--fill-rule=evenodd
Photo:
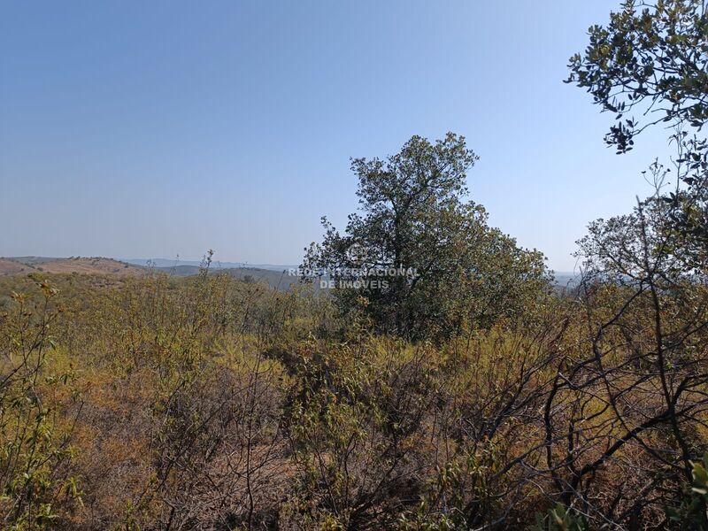
M681 486L706 449L708 289L685 263L669 208L657 193L628 215L592 223L579 242L590 350L558 371L551 388L555 403L550 400L547 409L549 468L563 462L569 471L553 475L563 501L599 498L589 495L600 487L602 473L596 473L620 463L630 475L615 486L605 480L601 488L624 490L622 503L594 510L630 529L653 527L650 519L658 516L651 516L652 503L673 507L685 498ZM598 398L599 412L589 413ZM569 419L554 418L553 406L560 403ZM573 438L564 421L580 427ZM567 441L556 443L556 437ZM561 446L566 455L557 453ZM669 528L666 521L660 527Z

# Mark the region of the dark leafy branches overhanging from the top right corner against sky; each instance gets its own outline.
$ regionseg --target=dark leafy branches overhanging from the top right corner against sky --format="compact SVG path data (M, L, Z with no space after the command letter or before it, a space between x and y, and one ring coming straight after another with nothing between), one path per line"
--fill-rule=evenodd
M583 54L570 58L567 82L588 89L604 111L615 113L605 142L618 153L635 136L663 124L671 141L677 177L663 200L669 219L705 265L708 245L708 144L701 130L708 119L708 15L704 0L628 0L610 14L607 27L589 28ZM642 122L627 113L641 113Z

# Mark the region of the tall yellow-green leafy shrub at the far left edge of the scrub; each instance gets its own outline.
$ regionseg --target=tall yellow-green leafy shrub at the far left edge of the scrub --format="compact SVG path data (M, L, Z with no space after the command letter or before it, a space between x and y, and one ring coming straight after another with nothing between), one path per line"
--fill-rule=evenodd
M13 531L52 528L57 505L81 504L72 427L62 422L77 400L73 370L47 367L58 291L46 281L35 288L37 298L12 293L0 312L0 521Z

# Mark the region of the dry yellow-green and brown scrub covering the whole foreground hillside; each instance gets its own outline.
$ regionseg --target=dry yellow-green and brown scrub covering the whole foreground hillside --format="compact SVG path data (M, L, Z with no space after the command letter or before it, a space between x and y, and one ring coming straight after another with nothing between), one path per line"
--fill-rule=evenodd
M687 490L705 440L697 285L656 306L595 284L415 343L307 289L220 275L29 275L2 293L4 528L701 518Z

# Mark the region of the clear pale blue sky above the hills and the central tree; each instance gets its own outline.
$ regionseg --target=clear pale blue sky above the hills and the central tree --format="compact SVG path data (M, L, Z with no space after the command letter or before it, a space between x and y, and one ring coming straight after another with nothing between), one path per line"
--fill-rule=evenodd
M0 4L0 256L296 264L357 207L350 157L466 135L471 197L572 270L663 136L625 156L562 81L620 1Z

